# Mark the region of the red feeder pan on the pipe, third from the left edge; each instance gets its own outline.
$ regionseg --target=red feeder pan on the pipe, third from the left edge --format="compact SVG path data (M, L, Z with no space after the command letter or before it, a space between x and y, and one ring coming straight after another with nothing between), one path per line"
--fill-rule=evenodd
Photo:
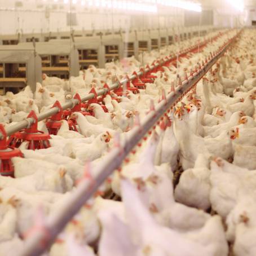
M54 114L52 117L48 118L46 122L46 127L48 129L49 134L57 135L60 127L61 127L61 120L64 120L65 115L69 115L68 111L63 111L63 108L60 105L60 102L56 100L54 105L51 108L59 108L59 112ZM69 125L69 130L76 131L76 125L73 123L72 120L67 120Z

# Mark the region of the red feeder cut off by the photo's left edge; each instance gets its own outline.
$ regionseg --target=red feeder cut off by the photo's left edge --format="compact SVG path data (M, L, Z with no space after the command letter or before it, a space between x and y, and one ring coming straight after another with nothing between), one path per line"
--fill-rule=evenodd
M0 175L14 177L14 166L12 165L12 157L23 157L20 149L14 147L8 147L7 134L5 128L0 123L0 131L3 135L3 139L0 140L0 159L1 169Z

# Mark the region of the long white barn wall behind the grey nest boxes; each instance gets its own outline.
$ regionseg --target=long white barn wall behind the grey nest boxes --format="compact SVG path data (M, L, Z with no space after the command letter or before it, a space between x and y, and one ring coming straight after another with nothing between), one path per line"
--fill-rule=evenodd
M50 1L50 0L48 0ZM44 5L42 0L23 0L23 8L15 7L15 0L0 0L0 34L40 33L69 31L67 26L67 13L70 12L69 5ZM57 6L57 10L53 10ZM47 10L49 10L47 12ZM77 26L75 30L91 29L157 29L166 27L182 27L184 24L183 11L163 10L162 13L117 13L112 10L99 12L95 10L90 13L85 7L77 5L72 11L77 13Z

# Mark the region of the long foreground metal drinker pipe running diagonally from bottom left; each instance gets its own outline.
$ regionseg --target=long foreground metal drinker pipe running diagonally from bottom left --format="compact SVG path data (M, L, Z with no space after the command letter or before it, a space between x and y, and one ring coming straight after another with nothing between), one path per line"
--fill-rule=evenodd
M98 187L104 182L114 170L122 164L126 156L131 150L143 139L155 123L162 115L170 109L170 107L179 100L187 91L189 91L196 83L209 71L216 61L224 54L228 47L235 41L239 34L236 34L229 42L220 47L213 58L202 65L201 69L189 76L186 81L182 82L175 92L170 92L166 100L162 100L157 104L155 111L151 111L144 118L140 126L135 126L131 130L128 138L126 138L123 147L114 147L107 156L104 157L101 164L96 168L95 173L98 175L94 180L81 180L76 191L72 193L65 205L59 209L58 213L49 216L46 219L45 226L38 228L38 231L30 236L25 242L25 248L21 251L21 256L36 256L41 255L54 242L58 233L63 230L70 219L81 209L89 198L94 195Z

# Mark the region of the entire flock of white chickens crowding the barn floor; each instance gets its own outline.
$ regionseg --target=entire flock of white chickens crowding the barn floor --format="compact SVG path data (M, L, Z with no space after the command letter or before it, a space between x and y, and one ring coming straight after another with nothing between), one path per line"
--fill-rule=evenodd
M78 131L61 121L50 148L32 151L22 143L24 158L12 158L15 178L0 176L0 255L19 255L24 239L42 231L45 217L58 214L80 180L93 181L94 167L116 147L116 134L125 142L138 116L147 115L163 90L173 90L177 72L184 74L235 34L230 31L177 65L163 67L139 94L111 92L104 106L90 104L93 116L72 113ZM45 255L256 255L255 37L254 30L242 32L129 161L105 180ZM177 49L152 51L143 61ZM105 69L90 66L69 81L43 74L34 94L26 87L1 97L0 121L13 125L32 110L47 111L55 100L65 103L77 92L83 96L92 87L112 85L140 65L127 58ZM38 126L47 133L44 121Z

